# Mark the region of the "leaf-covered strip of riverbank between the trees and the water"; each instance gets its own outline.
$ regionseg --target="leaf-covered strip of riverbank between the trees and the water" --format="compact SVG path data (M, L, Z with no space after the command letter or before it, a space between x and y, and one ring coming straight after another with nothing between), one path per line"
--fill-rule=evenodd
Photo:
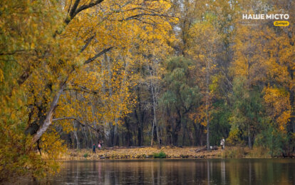
M182 159L182 158L271 158L265 149L228 146L225 150L218 147L216 150L205 151L203 147L112 147L96 149L68 149L66 154L60 157L61 160L97 160L97 159Z

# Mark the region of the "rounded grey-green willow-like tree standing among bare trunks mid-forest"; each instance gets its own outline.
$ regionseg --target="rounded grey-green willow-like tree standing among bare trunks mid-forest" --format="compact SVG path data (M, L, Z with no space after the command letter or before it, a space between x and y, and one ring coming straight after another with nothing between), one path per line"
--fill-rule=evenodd
M192 61L176 57L165 63L165 91L160 104L167 116L167 131L171 134L171 144L177 146L178 134L182 127L185 137L187 115L200 104L200 90L190 78ZM171 129L170 129L171 128Z

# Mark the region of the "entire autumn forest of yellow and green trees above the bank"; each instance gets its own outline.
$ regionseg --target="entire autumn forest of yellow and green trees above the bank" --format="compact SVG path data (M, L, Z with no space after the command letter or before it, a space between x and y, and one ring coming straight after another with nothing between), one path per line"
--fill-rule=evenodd
M242 14L289 14L243 20ZM295 151L293 0L1 0L0 182L66 149ZM51 159L51 160L48 160Z

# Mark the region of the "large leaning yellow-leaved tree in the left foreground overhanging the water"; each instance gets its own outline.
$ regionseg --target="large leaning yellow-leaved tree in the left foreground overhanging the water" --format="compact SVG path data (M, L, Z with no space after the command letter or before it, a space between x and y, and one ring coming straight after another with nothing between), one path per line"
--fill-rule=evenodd
M34 150L42 148L53 159L58 157L63 149L58 132L71 130L71 121L98 131L99 121L118 124L128 114L133 103L127 61L134 58L122 56L135 52L135 35L145 41L148 29L159 26L157 33L169 28L167 9L165 1L1 1L1 149L7 154L11 147L21 149L1 156L1 166L6 165L1 167L1 178L28 171L38 176L50 171L46 166L55 167ZM113 68L100 76L107 71L101 57L110 51ZM105 90L113 94L103 94L102 81L110 82ZM73 91L79 92L76 97ZM93 99L95 105L104 101L107 109L100 112L99 106L90 104ZM31 168L24 170L27 165Z

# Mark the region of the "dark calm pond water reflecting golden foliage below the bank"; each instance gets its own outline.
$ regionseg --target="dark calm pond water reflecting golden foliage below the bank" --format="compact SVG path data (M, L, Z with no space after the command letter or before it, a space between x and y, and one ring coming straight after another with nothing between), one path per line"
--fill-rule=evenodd
M295 160L65 161L47 184L295 184Z

